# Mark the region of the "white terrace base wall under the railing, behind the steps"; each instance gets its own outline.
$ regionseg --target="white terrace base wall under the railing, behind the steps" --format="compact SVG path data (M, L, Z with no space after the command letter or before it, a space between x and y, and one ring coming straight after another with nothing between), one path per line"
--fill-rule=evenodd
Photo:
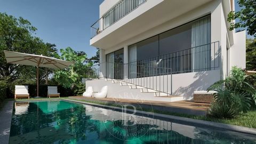
M204 91L219 80L220 70L217 69L194 73L173 74L172 76L164 75L137 79L131 78L128 82L145 87L154 87L155 90L172 93L172 95L179 95L186 100L191 100L193 99L194 91Z

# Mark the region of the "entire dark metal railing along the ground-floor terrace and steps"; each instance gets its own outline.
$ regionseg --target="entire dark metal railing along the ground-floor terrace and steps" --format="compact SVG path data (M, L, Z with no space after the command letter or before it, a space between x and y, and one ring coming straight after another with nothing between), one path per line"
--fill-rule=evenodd
M103 62L87 71L91 78L111 78L172 94L172 75L220 67L219 42L191 47L130 63Z

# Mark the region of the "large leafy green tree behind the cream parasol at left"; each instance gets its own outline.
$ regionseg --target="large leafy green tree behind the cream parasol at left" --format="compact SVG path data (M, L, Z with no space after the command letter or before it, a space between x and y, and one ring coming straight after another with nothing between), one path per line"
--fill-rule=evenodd
M26 77L23 79L26 81L30 78L27 76L36 74L36 70L33 67L6 63L4 50L46 56L51 56L53 55L52 53L56 52L54 44L45 44L42 39L32 36L36 30L26 19L21 17L17 19L12 15L0 13L0 78L13 82L17 79L21 80L20 77ZM41 70L40 72L44 74L44 71Z

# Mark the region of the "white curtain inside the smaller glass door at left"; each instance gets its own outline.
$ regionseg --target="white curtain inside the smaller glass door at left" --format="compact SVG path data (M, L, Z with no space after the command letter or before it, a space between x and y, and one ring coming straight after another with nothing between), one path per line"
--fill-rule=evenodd
M109 78L114 78L114 62L115 62L115 54L114 53L110 53L107 54L107 77Z

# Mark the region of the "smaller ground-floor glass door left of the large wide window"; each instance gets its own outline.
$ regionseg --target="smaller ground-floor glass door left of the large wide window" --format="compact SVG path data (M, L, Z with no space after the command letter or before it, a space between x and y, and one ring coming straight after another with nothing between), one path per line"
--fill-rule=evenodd
M107 77L124 78L124 49L106 55Z

